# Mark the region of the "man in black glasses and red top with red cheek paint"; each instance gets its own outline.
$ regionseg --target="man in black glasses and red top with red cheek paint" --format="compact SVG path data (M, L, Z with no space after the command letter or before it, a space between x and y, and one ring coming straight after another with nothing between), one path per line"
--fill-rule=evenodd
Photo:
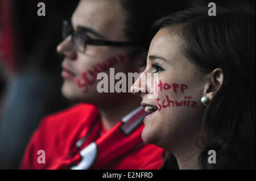
M42 121L22 169L143 169L162 159L163 149L142 142L141 99L98 92L97 74L143 70L151 23L174 7L167 0L80 1L57 52L64 56L63 95L82 103Z

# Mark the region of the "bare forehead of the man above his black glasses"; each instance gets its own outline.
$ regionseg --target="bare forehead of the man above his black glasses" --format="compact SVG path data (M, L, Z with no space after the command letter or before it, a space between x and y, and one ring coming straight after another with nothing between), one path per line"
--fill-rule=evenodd
M109 30L121 30L124 23L125 13L115 0L82 0L72 15L75 28L90 27L105 36L111 36L107 35Z

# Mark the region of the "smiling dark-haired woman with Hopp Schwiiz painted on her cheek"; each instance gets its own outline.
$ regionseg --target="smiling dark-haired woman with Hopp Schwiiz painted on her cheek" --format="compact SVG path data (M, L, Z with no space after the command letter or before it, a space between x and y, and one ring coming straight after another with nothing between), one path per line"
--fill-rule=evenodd
M187 9L155 27L144 73L158 79L131 88L150 113L143 141L166 150L163 169L253 168L255 15Z

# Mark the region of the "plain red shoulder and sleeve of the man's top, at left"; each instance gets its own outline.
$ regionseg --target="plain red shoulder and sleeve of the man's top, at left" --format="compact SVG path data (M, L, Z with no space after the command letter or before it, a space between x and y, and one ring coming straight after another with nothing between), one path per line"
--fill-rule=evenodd
M51 169L60 158L68 156L80 133L97 117L94 106L79 104L43 119L26 148L20 169ZM42 151L45 163L38 161Z

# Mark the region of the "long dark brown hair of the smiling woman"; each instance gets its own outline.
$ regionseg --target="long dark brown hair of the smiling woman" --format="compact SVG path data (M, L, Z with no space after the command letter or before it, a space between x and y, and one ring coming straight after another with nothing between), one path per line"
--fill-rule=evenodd
M186 9L160 19L154 27L156 31L169 28L179 36L183 54L199 71L220 68L224 73L224 82L210 100L201 125L201 168L253 168L255 14L217 7L217 15L209 16L205 8ZM216 151L214 164L208 163L209 150ZM169 158L173 160L173 155ZM172 165L167 160L163 169Z

